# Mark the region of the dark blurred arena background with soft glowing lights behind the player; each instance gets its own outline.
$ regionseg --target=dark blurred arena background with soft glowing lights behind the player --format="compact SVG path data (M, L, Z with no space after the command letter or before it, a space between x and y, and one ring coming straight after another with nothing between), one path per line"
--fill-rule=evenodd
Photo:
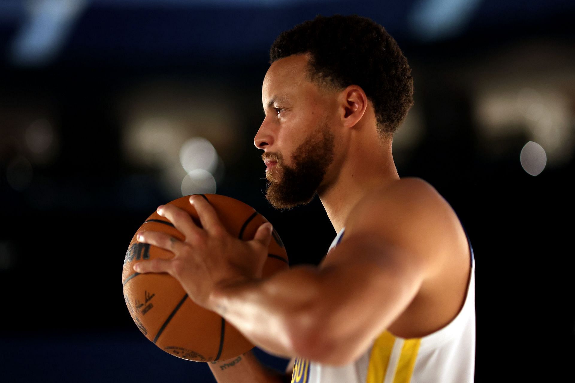
M158 205L217 193L267 217L291 265L323 258L321 202L274 210L253 139L271 43L335 13L379 22L412 67L394 159L469 234L476 381L569 374L575 2L1 0L0 381L213 382L137 329L125 251Z

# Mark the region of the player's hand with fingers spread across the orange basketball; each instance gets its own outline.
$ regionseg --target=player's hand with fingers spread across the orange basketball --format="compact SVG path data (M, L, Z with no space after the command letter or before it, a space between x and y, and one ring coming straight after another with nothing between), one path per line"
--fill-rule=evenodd
M150 259L134 265L138 273L168 273L178 279L188 296L210 309L210 294L216 289L262 277L272 227L264 223L254 239L244 241L228 233L216 210L201 196L190 197L203 228L189 213L174 205L162 205L158 214L166 217L185 236L179 241L158 231L142 231L137 240L174 253L171 259Z

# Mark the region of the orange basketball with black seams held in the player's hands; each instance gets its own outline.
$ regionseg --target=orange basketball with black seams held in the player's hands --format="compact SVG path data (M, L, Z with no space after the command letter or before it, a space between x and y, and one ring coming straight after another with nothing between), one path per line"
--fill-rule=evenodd
M267 220L249 205L219 194L201 194L231 235L243 240L254 239L255 232ZM190 196L168 202L190 213L201 227ZM178 240L184 236L158 213L154 212L132 237L124 258L122 285L128 311L140 331L162 350L178 358L196 362L225 360L241 355L254 347L235 327L215 312L192 301L177 279L167 273L136 273L133 265L144 259L169 259L171 251L147 243L139 243L142 230L162 231ZM273 231L263 277L270 277L289 268L287 254L278 233Z

